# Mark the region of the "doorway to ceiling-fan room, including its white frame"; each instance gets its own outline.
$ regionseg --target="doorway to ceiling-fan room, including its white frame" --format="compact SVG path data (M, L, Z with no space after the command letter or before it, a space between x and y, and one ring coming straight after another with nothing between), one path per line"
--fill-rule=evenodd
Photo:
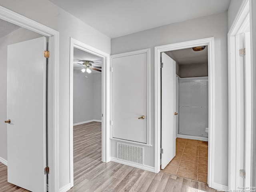
M70 188L74 176L81 174L78 165L90 163L86 158L110 161L106 123L108 62L107 53L70 38ZM94 145L93 150L84 149L90 145Z

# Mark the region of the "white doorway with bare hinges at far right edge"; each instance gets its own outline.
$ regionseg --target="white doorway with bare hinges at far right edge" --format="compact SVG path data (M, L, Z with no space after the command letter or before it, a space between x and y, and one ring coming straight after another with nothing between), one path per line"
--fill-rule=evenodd
M228 187L252 186L253 63L250 1L242 3L228 32ZM240 115L243 114L243 115ZM234 161L236 159L236 161ZM246 176L243 173L246 172Z

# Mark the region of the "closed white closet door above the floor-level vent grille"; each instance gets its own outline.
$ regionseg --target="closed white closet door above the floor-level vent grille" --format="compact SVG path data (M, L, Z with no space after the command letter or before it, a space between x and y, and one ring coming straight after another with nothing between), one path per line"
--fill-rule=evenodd
M147 143L147 53L112 58L112 137Z

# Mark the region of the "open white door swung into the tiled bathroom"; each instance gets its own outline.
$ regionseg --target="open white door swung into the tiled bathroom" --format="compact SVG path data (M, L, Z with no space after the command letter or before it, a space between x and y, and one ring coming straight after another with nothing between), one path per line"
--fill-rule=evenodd
M176 154L176 62L166 53L161 54L161 168L164 169Z

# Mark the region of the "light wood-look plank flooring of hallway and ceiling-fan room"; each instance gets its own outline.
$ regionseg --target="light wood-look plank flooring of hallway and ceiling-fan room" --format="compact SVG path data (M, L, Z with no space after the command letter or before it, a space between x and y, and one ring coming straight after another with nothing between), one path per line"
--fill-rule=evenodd
M216 192L206 183L101 162L101 123L74 126L74 187L68 192Z

